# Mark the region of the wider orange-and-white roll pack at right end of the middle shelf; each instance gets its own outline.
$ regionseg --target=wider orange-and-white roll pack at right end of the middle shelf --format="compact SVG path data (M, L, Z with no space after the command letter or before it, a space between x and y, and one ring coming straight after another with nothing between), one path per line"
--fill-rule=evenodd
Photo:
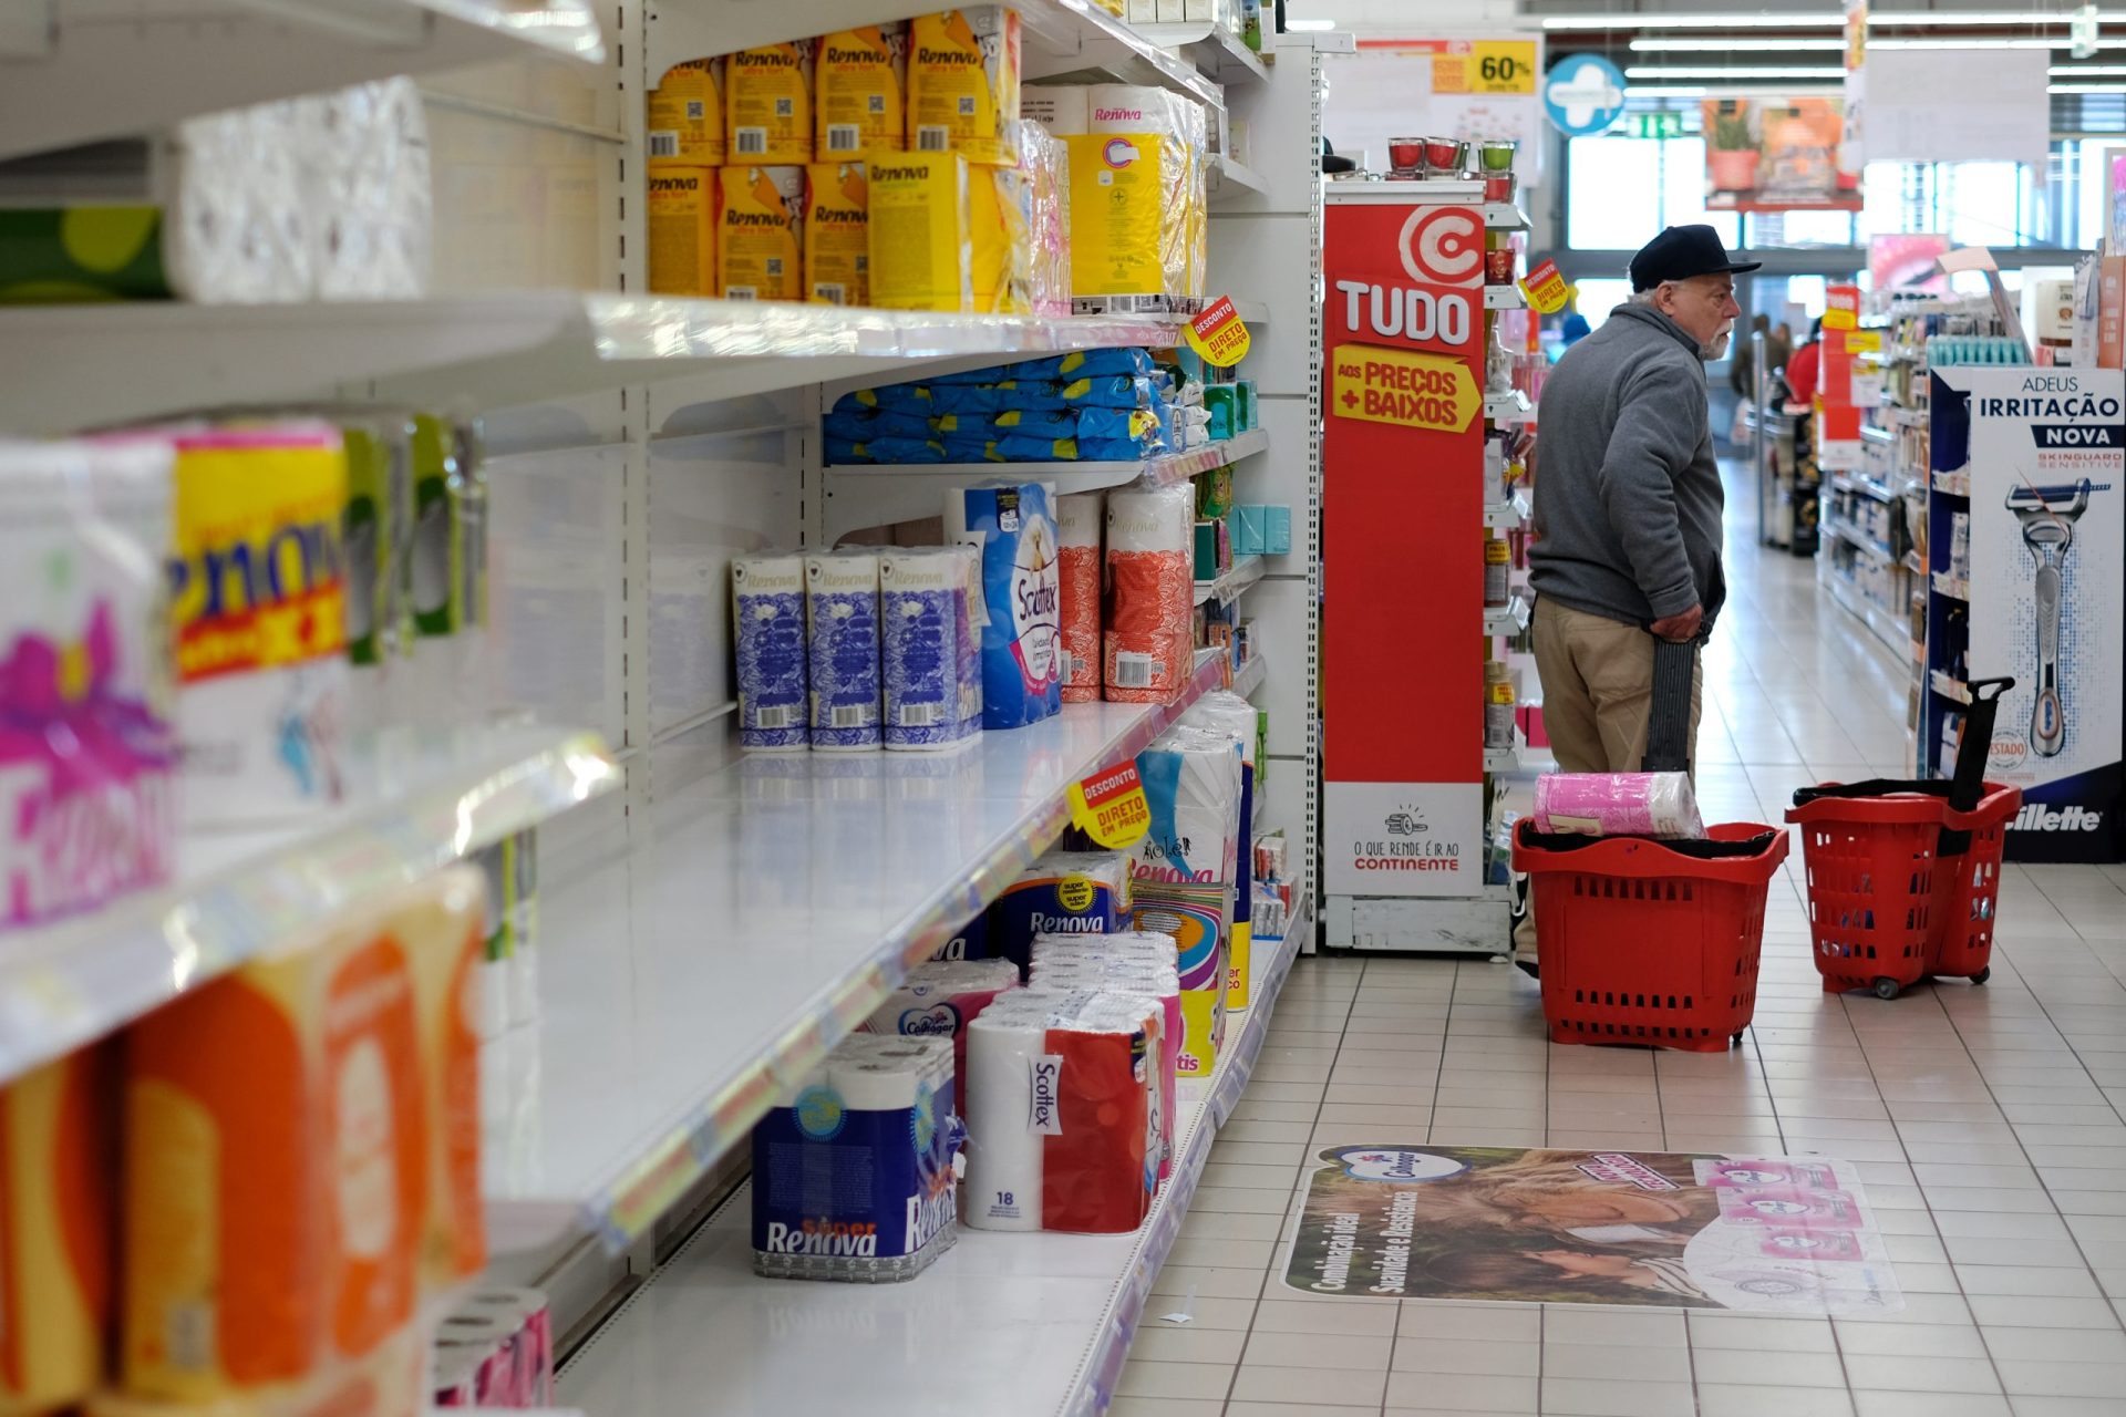
M1108 629L1101 684L1114 703L1167 703L1188 684L1195 493L1188 486L1108 493Z

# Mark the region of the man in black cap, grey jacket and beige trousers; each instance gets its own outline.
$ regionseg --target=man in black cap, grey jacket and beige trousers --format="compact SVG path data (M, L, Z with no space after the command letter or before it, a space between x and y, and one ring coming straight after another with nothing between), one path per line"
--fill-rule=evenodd
M1705 361L1728 348L1743 270L1709 225L1669 227L1631 259L1631 300L1543 382L1529 582L1560 771L1639 771L1654 635L1699 642L1726 599ZM1692 756L1697 731L1692 682ZM1533 975L1533 911L1518 952Z

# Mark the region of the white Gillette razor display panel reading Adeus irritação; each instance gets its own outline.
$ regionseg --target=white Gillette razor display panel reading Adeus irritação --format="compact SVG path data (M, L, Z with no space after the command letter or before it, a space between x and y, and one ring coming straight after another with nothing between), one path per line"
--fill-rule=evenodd
M1990 782L2022 788L2009 860L2120 860L2126 374L1935 365L1930 397L1935 486L1971 486L1928 499L1930 569L1969 563L1971 601L1930 597L1928 667L2015 676L1992 741L1960 750L1964 707L1930 678L1935 761L1981 750Z

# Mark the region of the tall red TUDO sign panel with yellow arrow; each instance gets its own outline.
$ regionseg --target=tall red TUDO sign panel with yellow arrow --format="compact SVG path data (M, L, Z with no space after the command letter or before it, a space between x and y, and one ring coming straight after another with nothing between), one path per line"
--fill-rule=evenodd
M1322 882L1484 880L1484 215L1333 183L1322 274ZM1414 508L1424 508L1422 516Z

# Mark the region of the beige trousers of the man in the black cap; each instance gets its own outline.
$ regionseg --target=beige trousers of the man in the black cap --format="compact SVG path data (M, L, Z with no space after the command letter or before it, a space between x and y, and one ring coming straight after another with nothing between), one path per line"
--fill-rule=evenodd
M1543 733L1563 773L1635 773L1654 712L1654 637L1637 625L1535 601L1535 671L1543 680ZM1699 765L1705 665L1690 680L1690 767ZM1535 958L1535 911L1514 933Z

